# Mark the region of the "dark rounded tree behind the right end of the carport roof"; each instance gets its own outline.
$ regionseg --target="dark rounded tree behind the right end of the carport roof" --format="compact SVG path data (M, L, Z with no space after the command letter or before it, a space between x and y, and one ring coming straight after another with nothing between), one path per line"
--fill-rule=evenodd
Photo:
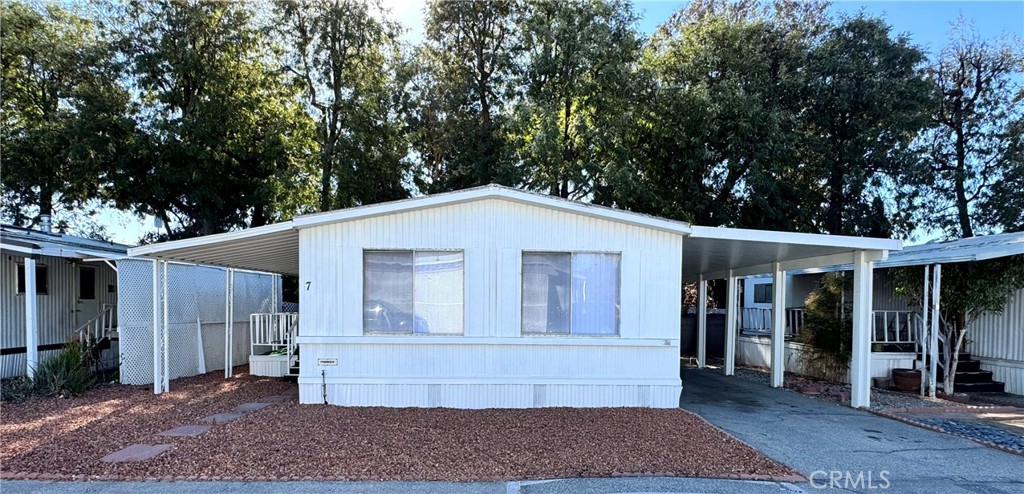
M881 233L869 187L902 179L919 159L911 143L928 122L924 59L905 36L863 16L844 19L811 51L801 155L820 181L822 231Z

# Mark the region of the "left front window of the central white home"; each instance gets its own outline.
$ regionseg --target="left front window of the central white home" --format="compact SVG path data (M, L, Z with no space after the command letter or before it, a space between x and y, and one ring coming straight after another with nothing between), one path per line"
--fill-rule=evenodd
M362 253L362 331L462 334L462 251Z

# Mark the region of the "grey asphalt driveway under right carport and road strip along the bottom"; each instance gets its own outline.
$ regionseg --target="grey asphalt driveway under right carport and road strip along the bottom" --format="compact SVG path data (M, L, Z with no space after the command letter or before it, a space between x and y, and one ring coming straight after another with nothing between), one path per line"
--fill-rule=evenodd
M687 370L683 408L809 483L710 479L568 479L510 483L0 482L0 494L116 493L921 493L1024 494L1024 457L714 371Z

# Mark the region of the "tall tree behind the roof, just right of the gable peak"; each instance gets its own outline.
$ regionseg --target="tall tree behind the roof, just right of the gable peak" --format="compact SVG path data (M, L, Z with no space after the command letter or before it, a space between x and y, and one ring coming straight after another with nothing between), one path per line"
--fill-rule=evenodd
M515 161L528 189L586 198L625 166L620 135L636 118L637 16L623 1L534 1L525 10Z

